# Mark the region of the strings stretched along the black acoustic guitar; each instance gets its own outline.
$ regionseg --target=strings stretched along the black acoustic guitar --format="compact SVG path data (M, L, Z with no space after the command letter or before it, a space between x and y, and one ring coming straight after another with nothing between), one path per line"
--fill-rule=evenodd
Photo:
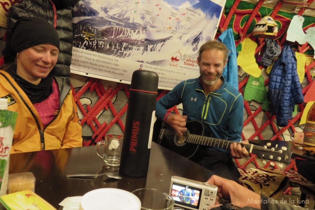
M162 129L162 130L160 131L160 136L161 136L161 135L175 136L175 135L177 135L177 133L176 133L175 131L170 131L170 130ZM209 145L209 142L211 141L210 146L212 145L213 141L215 140L214 145L215 145L215 144L218 144L218 145L222 144L222 148L223 148L223 145L224 145L224 144L231 145L232 143L234 143L234 141L229 141L229 140L224 140L224 139L216 139L216 138L205 137L205 136L195 135L195 134L189 134L189 133L183 133L183 136L184 136L184 137L187 137L187 140L189 141L188 143L194 143L194 142L191 142L192 140L194 140L195 142L196 142L196 141L197 141L197 142L198 142L198 141L202 141L202 142L205 141L205 142L208 143L207 145ZM196 138L193 138L193 136L196 136ZM203 140L203 139L205 139L205 140ZM218 141L218 142L216 142L216 141ZM223 142L221 142L221 141L223 141ZM185 142L187 142L187 141L185 140ZM237 142L237 143L240 144L239 142ZM206 143L205 143L205 144L201 144L201 145L206 145ZM250 149L251 144L246 144L246 145L244 145L244 146L245 146L246 148ZM272 151L272 149L264 148L263 146L253 145L253 149L261 150L262 148L263 148L264 150L266 150L266 151Z

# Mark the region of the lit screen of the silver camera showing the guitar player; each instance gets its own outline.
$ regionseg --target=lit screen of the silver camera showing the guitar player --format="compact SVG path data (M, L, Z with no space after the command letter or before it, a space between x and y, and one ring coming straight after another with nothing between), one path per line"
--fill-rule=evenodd
M202 189L173 182L171 196L177 204L199 209L201 195Z

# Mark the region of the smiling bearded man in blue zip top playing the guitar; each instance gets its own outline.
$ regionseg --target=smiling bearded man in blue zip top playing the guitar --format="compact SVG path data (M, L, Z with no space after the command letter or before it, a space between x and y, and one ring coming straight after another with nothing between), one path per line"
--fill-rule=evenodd
M199 49L197 63L200 77L180 82L168 94L157 101L156 116L171 126L178 136L186 132L187 120L201 121L214 138L235 141L230 145L230 152L225 149L203 148L194 162L232 180L240 177L232 157L248 157L242 141L243 96L222 77L227 63L228 49L218 41L209 41ZM167 109L183 105L183 115L167 112Z

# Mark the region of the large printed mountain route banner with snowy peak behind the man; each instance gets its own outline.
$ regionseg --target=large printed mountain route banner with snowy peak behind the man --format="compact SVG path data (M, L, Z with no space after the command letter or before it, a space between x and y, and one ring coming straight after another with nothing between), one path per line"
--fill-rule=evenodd
M225 0L82 0L73 8L71 72L130 84L137 69L172 89L199 76L200 46L213 40Z

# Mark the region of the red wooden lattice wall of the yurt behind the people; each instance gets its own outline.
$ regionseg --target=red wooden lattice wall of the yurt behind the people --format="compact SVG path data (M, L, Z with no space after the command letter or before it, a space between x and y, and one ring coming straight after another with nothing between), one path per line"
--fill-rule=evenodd
M314 0L308 0L307 4L310 4L313 1ZM239 2L240 2L240 0L236 0L233 4L233 7L230 9L229 14L226 16L225 20L221 20L219 30L218 30L219 32L217 35L220 35L220 32L227 29L229 21L231 20L231 17L233 15L235 9L237 8ZM249 28L249 26L250 26L250 24L251 24L251 22L255 16L255 12L257 12L260 9L260 7L262 6L263 3L264 3L264 0L260 0L256 4L252 15L249 17L249 21L243 27L243 31L239 33L240 40L238 40L236 42L236 46L239 43L241 43L246 37L251 36L250 33L248 35L246 35L247 30L248 30L248 28ZM273 9L273 12L270 16L272 16L274 18L282 5L283 5L283 1L279 1L277 3L276 7ZM301 10L298 14L299 15L303 14L304 10L305 10L305 7L301 8ZM315 26L315 23L313 24L313 27L314 26ZM282 39L282 41L280 42L280 46L283 45L284 41L285 41L285 36ZM263 39L258 39L258 42L261 42L263 44ZM304 53L309 48L311 48L311 46L308 45L307 43L304 45L301 45L301 46L298 45L298 52ZM258 53L258 51L259 51L259 48L257 47L256 53ZM263 67L260 66L260 68L262 69ZM315 68L315 61L313 61L310 65L305 66L306 79L304 81L306 81L307 84L304 85L304 87L303 87L303 91L302 91L303 94L306 94L307 90L310 88L310 86L312 84L313 80L312 80L312 76L310 74L310 71L311 71L311 69L314 69L314 68ZM249 76L242 79L242 81L239 81L238 88L242 94L243 94L243 90L246 86L246 83L248 81L248 78L249 78ZM268 79L265 80L265 87L267 85L268 85ZM102 84L102 81L100 79L95 79L95 78L89 78L89 81L82 88L80 88L80 90L78 90L77 92L72 87L72 92L73 92L75 101L77 103L77 107L82 112L82 114L84 115L83 119L81 120L81 125L82 126L89 126L90 129L94 133L90 139L83 141L84 146L93 145L93 144L97 143L98 141L102 140L104 138L104 136L106 135L106 133L109 131L109 129L114 124L117 124L121 128L122 132L124 132L125 127L124 127L124 122L121 119L121 117L127 111L128 101L126 101L126 104L123 106L123 108L121 110L116 110L116 108L114 107L114 105L112 103L113 97L115 97L116 94L118 93L118 91L120 91L120 90L123 90L123 92L127 96L127 98L129 97L129 89L127 88L127 85L119 83L117 85L117 87L115 87L115 88L109 87L109 88L105 89L103 84ZM97 94L98 101L92 107L90 105L87 105L87 107L84 108L79 99L83 95L83 93L85 93L86 91L95 92ZM167 93L168 93L168 91L165 91L165 90L161 91L161 93L158 95L158 99ZM109 111L112 113L113 119L111 119L111 121L109 123L99 122L99 120L97 119L96 116L102 110L106 110L106 111ZM176 113L179 114L176 107L173 107L172 110L174 110ZM243 127L251 124L251 126L254 128L252 130L252 133L250 133L250 137L247 139L266 139L266 137L264 137L262 132L267 131L268 133L273 133L272 137L269 138L270 140L285 140L283 138L283 133L286 132L287 130L290 130L290 133L295 132L295 125L299 122L303 111L304 111L304 105L300 104L298 114L294 118L289 120L289 123L286 127L279 128L276 125L276 122L275 122L276 117L274 115L271 115L268 111L264 111L262 109L261 105L259 107L257 107L255 110L252 110L250 107L250 101L245 100L244 101L244 113L247 114L247 118L244 119ZM259 126L259 123L257 123L257 122L258 122L258 120L261 121L261 117L259 117L261 115L261 113L263 113L266 120L264 122L262 122L261 125ZM245 139L244 133L242 133L242 138ZM257 163L256 156L253 154L251 154L248 161L246 161L242 165L239 163L239 161L237 159L235 160L235 162L238 165L238 167L240 167L240 168L248 166L249 163L254 164L255 167L258 167L258 168L261 167ZM267 168L267 167L272 166L272 167L278 169L277 164L278 163L274 163L272 161L269 161L263 166L263 168ZM291 164L289 164L284 169L288 170L288 169L292 169L292 168L294 170L297 170L295 167L295 161L294 160L291 160Z

